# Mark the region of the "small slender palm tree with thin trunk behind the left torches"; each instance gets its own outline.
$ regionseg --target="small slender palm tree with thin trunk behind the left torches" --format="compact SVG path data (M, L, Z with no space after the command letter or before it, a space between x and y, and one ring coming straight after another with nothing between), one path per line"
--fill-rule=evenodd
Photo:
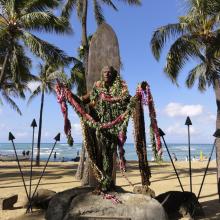
M44 96L45 93L55 93L54 87L58 75L59 75L59 71L57 71L57 67L52 66L49 63L46 63L45 65L40 64L40 73L35 80L39 82L39 85L32 92L28 100L28 104L29 104L36 96L41 94L40 117L39 117L38 139L37 139L37 156L36 156L37 166L40 165L40 143L41 143L41 132L42 132Z

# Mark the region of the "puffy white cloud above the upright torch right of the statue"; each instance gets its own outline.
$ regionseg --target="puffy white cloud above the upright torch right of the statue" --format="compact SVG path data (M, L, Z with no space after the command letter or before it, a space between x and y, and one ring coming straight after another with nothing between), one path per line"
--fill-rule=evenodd
M198 116L203 113L203 106L202 105L184 105L181 103L171 102L165 107L165 113L169 117Z

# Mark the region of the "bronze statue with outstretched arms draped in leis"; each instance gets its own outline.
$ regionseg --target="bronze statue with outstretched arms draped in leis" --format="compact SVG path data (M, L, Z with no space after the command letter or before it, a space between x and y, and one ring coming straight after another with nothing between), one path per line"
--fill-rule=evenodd
M149 92L149 85L143 82L138 86L136 95L131 97L127 85L111 66L102 69L101 80L94 83L91 92L81 99L64 85L57 85L58 100L65 118L65 133L70 137L70 123L67 119L67 100L83 122L84 145L98 180L97 187L102 191L114 188L113 167L114 153L118 146L120 170L125 171L124 143L126 141L127 125L131 115L135 122L135 145L139 158L139 168L142 185L149 185L150 169L147 162L146 140L143 118L143 101L152 109L151 122L157 142L158 128L153 109L153 100ZM89 105L86 108L86 105ZM161 148L160 142L157 143Z

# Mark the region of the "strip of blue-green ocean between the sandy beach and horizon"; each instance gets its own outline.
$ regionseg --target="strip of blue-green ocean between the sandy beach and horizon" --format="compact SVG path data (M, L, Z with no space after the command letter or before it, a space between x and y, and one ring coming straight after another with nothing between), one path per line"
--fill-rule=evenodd
M15 143L15 147L18 155L22 155L22 151L31 151L31 143ZM66 143L58 143L54 149L56 152L56 161L70 161L77 156L77 153L81 150L81 143L74 143L72 147L70 147ZM170 154L174 153L177 157L177 160L186 160L186 156L188 155L188 144L167 144ZM36 144L34 145L34 159L36 158ZM41 160L47 160L51 149L53 147L53 143L42 143L41 144ZM126 160L137 160L137 154L135 151L134 144L126 143L125 146L125 158ZM191 144L191 158L195 157L199 159L200 153L209 158L211 153L212 144ZM13 146L11 143L0 143L0 155L14 155ZM215 159L216 153L214 151L212 155L212 159ZM153 160L152 149L151 146L147 146L147 158L148 160ZM169 156L167 154L166 148L163 146L163 160L170 161ZM51 161L54 161L53 155L51 156Z

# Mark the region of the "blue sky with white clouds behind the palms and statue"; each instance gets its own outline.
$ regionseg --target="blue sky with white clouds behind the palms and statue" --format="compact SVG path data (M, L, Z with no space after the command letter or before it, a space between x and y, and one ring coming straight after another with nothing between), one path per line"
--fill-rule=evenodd
M90 1L89 1L90 2ZM115 1L117 2L117 1ZM120 2L120 1L119 1ZM122 2L122 1L121 1ZM150 48L150 40L153 32L163 25L175 23L178 16L184 14L184 0L142 0L141 7L130 7L117 3L119 11L104 7L104 14L108 24L114 29L120 47L120 56L123 63L121 76L127 82L131 95L135 94L139 82L146 80L153 94L158 126L165 132L165 140L168 143L187 143L187 127L184 125L187 116L190 116L192 143L213 143L212 134L215 131L216 101L212 88L201 93L195 86L188 89L185 79L195 61L189 61L180 73L179 86L172 84L163 72L165 55L170 44L162 53L160 61L156 61ZM55 35L37 33L42 39L63 49L68 55L77 56L77 48L80 45L81 28L76 15L73 13L71 24L73 35ZM89 9L88 33L96 31L96 24ZM33 73L38 73L38 60L33 58ZM31 85L34 87L34 84ZM27 93L27 98L30 96ZM16 142L31 142L32 128L30 124L35 118L39 120L40 97L37 97L30 105L27 100L16 100L22 110L22 116L13 111L7 103L0 106L0 143L8 142L8 132L16 137ZM72 124L74 141L82 141L81 127L77 115L69 106L69 119ZM145 111L146 127L149 126L148 111ZM53 95L46 95L43 112L42 142L53 142L53 138L61 132L61 142L66 142L63 132L63 116L60 106ZM128 127L127 142L133 141L132 123ZM147 142L149 143L147 129ZM35 137L37 136L37 130Z

